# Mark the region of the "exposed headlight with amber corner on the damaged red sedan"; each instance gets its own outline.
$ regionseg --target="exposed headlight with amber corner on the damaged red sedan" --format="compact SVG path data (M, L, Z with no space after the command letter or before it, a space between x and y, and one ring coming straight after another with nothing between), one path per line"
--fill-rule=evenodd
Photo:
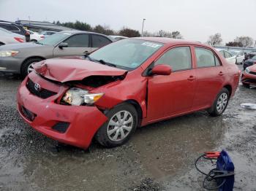
M72 87L62 98L62 101L72 106L80 106L83 104L94 104L101 98L103 93L89 93L88 90L83 90L78 87Z

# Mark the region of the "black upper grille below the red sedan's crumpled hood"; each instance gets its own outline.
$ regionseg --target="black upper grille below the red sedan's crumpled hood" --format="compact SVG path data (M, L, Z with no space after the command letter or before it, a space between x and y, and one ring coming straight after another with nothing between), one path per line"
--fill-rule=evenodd
M26 87L28 88L30 93L37 95L37 97L43 98L43 99L49 98L50 96L57 94L53 91L46 90L44 88L41 88L40 90L36 90L35 83L32 82L31 79L28 79L28 82L26 83Z

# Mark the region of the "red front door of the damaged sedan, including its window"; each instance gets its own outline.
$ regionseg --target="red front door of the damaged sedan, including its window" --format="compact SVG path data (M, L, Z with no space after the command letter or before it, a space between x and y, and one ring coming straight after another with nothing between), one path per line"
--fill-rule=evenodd
M173 47L154 64L169 65L172 73L169 76L148 77L148 120L189 111L196 83L191 47Z

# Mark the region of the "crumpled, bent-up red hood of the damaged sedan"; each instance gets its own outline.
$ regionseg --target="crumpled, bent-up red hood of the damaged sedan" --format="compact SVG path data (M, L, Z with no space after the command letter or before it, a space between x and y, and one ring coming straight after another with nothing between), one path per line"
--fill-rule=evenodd
M81 58L53 58L34 64L34 69L45 78L58 82L82 80L89 76L121 76L127 71Z

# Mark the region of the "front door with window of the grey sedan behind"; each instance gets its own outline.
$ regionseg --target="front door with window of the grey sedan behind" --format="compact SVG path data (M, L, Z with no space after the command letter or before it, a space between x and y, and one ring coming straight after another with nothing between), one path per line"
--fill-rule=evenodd
M91 52L89 34L74 34L65 39L64 42L68 44L68 47L59 48L56 46L53 50L53 57L86 55L87 52Z

